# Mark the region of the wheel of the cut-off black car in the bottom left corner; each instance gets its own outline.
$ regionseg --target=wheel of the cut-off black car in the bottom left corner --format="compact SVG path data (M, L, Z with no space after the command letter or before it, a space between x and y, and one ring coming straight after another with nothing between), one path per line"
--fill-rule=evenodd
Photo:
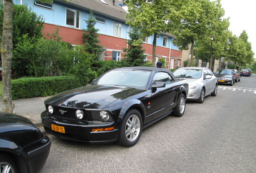
M0 154L0 169L1 173L18 173L14 159L6 154Z

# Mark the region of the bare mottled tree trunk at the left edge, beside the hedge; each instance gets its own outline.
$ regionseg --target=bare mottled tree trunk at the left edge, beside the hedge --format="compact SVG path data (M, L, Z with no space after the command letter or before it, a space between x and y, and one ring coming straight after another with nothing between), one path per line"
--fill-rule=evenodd
M14 103L11 91L11 61L12 61L12 0L4 0L4 21L1 43L2 76L3 76L3 112L12 113Z

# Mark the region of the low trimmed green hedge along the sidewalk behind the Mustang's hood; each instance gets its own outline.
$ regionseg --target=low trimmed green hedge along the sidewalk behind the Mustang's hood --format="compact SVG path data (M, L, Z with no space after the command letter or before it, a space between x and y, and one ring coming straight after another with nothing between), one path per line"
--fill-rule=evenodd
M19 78L12 80L12 99L50 96L81 87L81 82L73 76L53 76L41 78Z

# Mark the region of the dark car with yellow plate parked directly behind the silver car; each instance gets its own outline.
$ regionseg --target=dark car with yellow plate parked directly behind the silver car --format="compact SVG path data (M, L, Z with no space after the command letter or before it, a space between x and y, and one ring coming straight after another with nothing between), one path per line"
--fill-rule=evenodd
M235 83L235 74L231 69L219 69L216 71L215 76L217 77L218 84L230 84L233 86Z

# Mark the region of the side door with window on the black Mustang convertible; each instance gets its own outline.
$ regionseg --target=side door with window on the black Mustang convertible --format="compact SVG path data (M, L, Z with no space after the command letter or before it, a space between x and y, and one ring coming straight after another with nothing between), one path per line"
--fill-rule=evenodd
M171 76L166 72L157 72L153 77L154 81L165 82L165 87L152 89L152 96L149 99L152 113L145 117L145 124L165 115L174 107L176 87Z

